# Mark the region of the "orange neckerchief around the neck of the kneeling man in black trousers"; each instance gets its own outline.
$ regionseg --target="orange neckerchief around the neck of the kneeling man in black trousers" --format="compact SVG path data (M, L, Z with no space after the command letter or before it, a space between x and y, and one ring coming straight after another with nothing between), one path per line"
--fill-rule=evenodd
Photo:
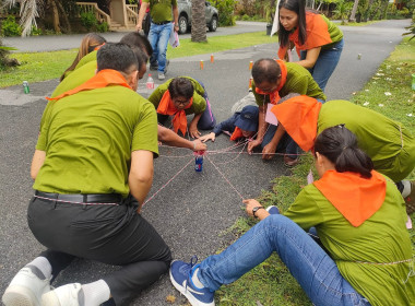
M46 98L48 101L58 101L62 97L73 95L82 91L103 89L109 85L120 85L120 86L124 86L131 90L130 85L126 83L126 79L122 76L120 72L112 69L104 69L104 70L100 70L98 73L96 73L94 76L92 76L82 85L79 85L78 87L70 90L56 97L46 97Z

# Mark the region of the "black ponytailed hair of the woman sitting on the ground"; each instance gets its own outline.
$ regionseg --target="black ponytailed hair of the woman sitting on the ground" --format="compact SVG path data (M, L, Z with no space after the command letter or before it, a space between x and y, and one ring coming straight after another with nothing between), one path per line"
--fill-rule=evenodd
M315 152L329 158L336 172L354 172L371 177L374 162L357 146L356 136L344 125L323 130L316 139Z

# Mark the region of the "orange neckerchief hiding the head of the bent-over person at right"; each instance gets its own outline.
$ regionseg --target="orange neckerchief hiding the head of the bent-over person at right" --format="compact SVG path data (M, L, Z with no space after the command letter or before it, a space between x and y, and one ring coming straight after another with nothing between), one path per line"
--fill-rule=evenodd
M321 106L316 98L301 95L273 106L271 111L293 140L307 152L315 145Z

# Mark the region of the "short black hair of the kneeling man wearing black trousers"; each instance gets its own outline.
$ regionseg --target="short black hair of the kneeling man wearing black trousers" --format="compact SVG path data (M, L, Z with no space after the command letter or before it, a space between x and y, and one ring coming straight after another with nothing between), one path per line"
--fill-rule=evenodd
M99 48L96 55L98 71L114 69L123 73L139 70L139 61L132 49L126 44L108 43Z

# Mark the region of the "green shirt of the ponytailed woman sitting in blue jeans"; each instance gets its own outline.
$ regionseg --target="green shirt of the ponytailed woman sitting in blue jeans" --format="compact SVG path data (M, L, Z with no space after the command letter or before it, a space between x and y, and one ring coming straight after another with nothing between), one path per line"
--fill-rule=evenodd
M396 186L388 179L381 208L354 227L315 187L306 186L284 213L308 231L316 226L321 243L341 274L370 305L414 305L415 276L407 278L412 248L405 227L405 204Z

